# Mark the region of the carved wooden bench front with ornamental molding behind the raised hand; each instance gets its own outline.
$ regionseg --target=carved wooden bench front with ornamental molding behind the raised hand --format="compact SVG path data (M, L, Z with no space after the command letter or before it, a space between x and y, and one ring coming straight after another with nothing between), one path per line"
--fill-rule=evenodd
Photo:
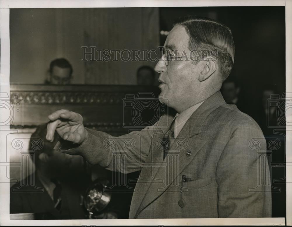
M19 110L14 111L11 127L32 129L48 122L52 111L69 109L83 116L85 127L124 134L134 125L131 112L123 109L123 99L138 92L157 96L159 89L131 85L11 85L10 100L14 110Z

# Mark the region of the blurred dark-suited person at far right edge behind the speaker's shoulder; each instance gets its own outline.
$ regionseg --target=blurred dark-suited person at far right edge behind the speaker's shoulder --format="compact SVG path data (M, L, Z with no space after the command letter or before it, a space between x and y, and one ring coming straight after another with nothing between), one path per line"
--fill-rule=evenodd
M284 93L283 93L284 94ZM267 151L271 157L271 185L272 185L272 214L283 216L286 211L286 173L285 173L285 138L286 128L281 123L285 122L285 99L275 85L265 84L258 105L254 110L253 118L263 131L267 143ZM271 105L271 102L273 103ZM277 105L275 105L277 103ZM277 142L278 141L278 142ZM273 146L277 144L277 146ZM279 209L281 207L281 209Z

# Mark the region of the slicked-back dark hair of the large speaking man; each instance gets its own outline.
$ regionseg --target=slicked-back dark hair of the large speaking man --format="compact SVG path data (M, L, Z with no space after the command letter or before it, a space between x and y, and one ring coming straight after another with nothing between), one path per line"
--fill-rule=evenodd
M218 51L218 66L222 81L230 74L234 62L234 42L229 27L215 20L197 16L179 18L173 25L185 27L190 37L189 49Z

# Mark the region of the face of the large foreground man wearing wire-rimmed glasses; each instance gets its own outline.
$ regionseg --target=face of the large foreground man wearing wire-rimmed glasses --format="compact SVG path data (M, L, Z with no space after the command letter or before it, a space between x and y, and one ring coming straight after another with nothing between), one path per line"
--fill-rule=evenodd
M182 56L185 51L187 56L190 56L189 36L185 27L175 26L168 34L164 50L169 51L174 57ZM177 51L175 53L175 51ZM162 57L164 58L164 56ZM200 84L198 81L198 64L188 57L182 57L181 60L170 60L168 66L165 61L160 59L156 66L159 76L160 95L163 99L168 99L168 105L177 111L183 111L185 107L190 107L196 103L195 100L200 95ZM189 103L193 103L189 105Z

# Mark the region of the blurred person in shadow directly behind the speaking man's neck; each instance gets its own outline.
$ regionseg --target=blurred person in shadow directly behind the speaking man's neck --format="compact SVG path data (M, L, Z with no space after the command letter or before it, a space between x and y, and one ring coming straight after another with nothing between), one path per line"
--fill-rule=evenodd
M236 79L232 76L229 76L222 84L221 93L227 104L234 104L237 108L246 113L245 104L242 99L239 97L240 87Z

